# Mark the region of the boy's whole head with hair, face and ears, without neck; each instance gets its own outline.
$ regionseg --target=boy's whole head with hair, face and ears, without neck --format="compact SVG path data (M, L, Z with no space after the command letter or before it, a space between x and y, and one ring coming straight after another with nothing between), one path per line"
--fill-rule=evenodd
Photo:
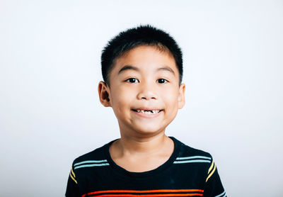
M127 30L102 56L106 83L100 81L98 94L103 106L112 107L121 136L163 133L185 104L182 57L173 38L149 26Z

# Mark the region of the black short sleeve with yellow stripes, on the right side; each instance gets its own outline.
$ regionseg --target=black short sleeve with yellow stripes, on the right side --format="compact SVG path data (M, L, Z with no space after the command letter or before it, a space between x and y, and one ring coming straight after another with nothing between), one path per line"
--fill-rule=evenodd
M226 197L214 160L209 164L205 179L204 197Z

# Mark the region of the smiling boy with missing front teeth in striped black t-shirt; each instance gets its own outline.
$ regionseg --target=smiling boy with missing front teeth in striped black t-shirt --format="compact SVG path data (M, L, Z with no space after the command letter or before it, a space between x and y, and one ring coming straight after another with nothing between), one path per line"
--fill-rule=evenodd
M212 156L165 135L185 104L175 40L132 28L110 40L101 64L100 102L112 107L121 137L74 160L66 196L226 196Z

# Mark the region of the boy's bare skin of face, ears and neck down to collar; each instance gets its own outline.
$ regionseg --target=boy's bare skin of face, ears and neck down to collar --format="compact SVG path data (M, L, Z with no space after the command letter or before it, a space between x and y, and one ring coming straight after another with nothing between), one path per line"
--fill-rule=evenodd
M110 85L100 81L98 94L103 106L112 107L119 123L121 138L109 150L117 165L128 171L149 171L171 157L174 143L165 130L185 104L185 84L179 84L170 53L153 46L134 47L117 58Z

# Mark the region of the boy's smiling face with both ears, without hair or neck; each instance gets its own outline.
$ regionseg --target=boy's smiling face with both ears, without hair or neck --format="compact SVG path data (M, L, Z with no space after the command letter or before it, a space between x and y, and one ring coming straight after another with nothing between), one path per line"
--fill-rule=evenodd
M100 81L100 102L111 106L121 135L145 137L164 132L185 104L185 84L168 52L139 46L117 58L110 86Z

